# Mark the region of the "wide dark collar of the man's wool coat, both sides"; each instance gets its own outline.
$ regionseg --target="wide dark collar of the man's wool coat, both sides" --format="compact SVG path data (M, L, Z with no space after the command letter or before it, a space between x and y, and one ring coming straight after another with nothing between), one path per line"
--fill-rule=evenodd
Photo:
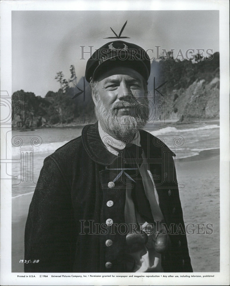
M140 143L149 158L162 158L162 151L170 152L176 156L161 140L149 132L140 130ZM89 157L98 164L110 165L117 156L111 154L103 145L98 131L98 122L86 125L82 130L83 146Z

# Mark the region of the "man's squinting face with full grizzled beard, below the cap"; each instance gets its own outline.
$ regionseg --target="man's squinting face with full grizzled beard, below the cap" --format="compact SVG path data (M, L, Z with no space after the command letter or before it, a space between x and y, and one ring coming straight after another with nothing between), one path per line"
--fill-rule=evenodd
M110 135L126 135L142 128L149 115L144 90L144 79L133 69L115 68L99 78L93 100L103 129Z

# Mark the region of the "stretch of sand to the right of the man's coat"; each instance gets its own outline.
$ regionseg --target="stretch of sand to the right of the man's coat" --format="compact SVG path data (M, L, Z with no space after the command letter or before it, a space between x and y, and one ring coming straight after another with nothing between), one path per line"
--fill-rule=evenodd
M194 272L219 272L219 156L209 156L176 162L178 182L185 185L185 188L179 189L184 222L185 225L195 224L196 229L195 234L187 234ZM206 230L207 223L213 224L213 233L198 234ZM205 227L202 230L200 225L201 230L198 231L197 224L204 224ZM192 228L188 228L190 233Z

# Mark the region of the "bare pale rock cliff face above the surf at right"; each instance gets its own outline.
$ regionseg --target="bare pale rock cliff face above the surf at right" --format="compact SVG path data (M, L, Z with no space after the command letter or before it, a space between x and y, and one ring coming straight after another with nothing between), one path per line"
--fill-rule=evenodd
M210 82L196 80L186 89L173 90L165 98L166 119L219 118L219 85L217 73Z

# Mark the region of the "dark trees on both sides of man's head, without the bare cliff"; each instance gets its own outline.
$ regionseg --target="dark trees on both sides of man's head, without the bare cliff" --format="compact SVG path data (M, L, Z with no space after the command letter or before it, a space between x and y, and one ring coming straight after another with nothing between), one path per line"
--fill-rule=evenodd
M167 56L169 57L169 54L166 55L166 58ZM160 88L160 92L166 99L167 116L173 112L179 114L180 110L183 110L183 106L187 104L184 100L186 89L197 80L205 80L205 83L209 83L213 78L219 78L219 53L214 53L212 59L199 58L200 56L197 55L196 63L191 60L180 61L175 59L153 60L151 63L148 90L152 95L154 94L154 78L155 88L167 81ZM73 65L70 67L70 72L69 82L72 79L76 83ZM17 124L22 118L23 128L70 122L83 123L84 118L87 123L95 121L91 91L89 84L87 82L84 84L84 77L81 77L79 82L74 84L74 87L69 87L69 82L64 79L62 72L58 72L55 79L60 83L61 88L58 92L47 92L45 98L35 96L32 92L24 92L24 90L14 92L14 94L18 94L18 97L23 97L23 114L21 110L15 109L13 124ZM216 87L217 94L218 86ZM76 97L79 90L85 90L85 98L82 92ZM218 96L216 95L216 97Z

